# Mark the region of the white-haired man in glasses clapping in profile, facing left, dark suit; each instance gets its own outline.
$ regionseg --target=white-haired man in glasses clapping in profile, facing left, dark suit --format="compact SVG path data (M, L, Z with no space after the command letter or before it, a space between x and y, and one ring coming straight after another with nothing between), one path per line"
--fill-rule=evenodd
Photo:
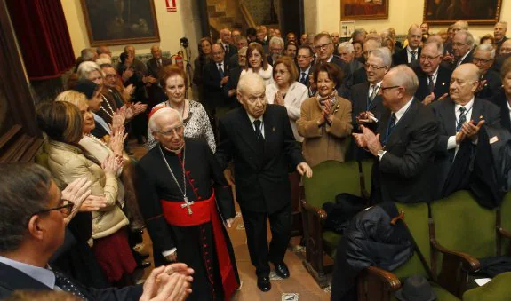
M361 126L353 134L359 147L375 156L372 170L372 202L431 202L433 170L429 168L438 141L435 115L413 95L417 75L407 66L390 69L379 94L388 107L375 134Z

